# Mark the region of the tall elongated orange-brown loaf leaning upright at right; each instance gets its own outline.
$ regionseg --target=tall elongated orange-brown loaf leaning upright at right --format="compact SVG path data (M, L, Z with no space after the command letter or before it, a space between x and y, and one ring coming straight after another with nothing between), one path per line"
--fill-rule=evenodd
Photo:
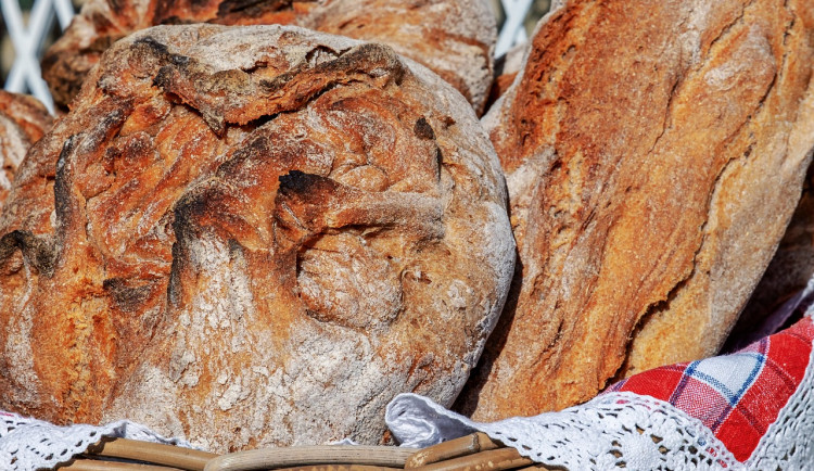
M546 16L485 116L517 282L459 403L584 402L721 346L814 145L810 0L582 1Z

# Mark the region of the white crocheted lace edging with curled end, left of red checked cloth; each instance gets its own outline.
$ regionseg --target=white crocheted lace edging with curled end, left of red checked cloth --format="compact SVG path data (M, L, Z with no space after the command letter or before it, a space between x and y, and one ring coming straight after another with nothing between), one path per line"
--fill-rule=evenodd
M390 404L385 420L404 446L430 446L480 431L537 462L571 470L742 469L699 420L632 393L494 423L473 422L425 397L403 394Z

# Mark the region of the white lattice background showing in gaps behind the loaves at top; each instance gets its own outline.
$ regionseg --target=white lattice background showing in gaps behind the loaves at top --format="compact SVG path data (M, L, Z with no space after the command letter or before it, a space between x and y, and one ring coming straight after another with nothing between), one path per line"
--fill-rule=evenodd
M548 0L492 0L501 25L496 55L524 41L526 29L548 10ZM51 94L40 74L39 56L54 22L60 29L71 23L74 4L71 0L34 0L29 8L22 8L20 0L0 0L0 5L5 27L5 47L0 49L3 54L0 63L5 65L3 72L8 69L4 88L31 93L53 111Z

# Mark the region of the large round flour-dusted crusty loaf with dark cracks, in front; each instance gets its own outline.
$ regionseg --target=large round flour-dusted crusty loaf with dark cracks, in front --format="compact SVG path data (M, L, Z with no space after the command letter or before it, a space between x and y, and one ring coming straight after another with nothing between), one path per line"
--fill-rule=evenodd
M396 393L453 402L511 279L486 133L385 46L145 29L29 160L58 162L55 217L2 238L0 408L60 423L374 443Z

